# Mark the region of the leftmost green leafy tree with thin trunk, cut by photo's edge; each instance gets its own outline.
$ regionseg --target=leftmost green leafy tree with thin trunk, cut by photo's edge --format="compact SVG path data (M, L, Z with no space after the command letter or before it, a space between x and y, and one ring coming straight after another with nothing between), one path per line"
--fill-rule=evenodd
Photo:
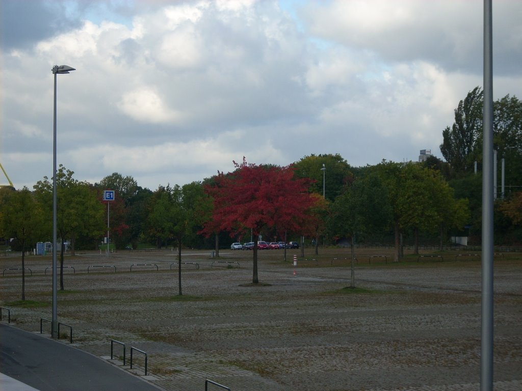
M0 198L0 236L16 238L22 251L22 300L26 299L26 251L41 237L43 213L33 193L24 187Z

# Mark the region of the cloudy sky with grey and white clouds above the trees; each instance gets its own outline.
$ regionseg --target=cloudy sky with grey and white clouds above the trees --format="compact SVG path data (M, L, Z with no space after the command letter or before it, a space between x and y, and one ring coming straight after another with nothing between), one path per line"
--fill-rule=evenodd
M494 99L522 97L522 2L493 2ZM442 158L482 85L482 0L0 0L0 162L16 188L114 172L183 185L232 161ZM0 184L7 180L0 173Z

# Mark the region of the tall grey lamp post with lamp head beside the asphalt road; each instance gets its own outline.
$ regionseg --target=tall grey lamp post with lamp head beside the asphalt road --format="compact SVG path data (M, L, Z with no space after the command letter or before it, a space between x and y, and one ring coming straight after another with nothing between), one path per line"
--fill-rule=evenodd
M51 323L51 337L58 338L58 311L57 311L57 282L56 271L56 75L68 74L76 70L68 65L55 65L51 71L54 75L54 110L53 110L53 317Z

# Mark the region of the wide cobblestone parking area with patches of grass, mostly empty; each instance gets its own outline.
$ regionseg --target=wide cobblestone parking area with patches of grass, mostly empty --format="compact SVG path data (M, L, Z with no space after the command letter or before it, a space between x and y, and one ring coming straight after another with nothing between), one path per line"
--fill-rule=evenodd
M75 346L95 355L110 356L111 339L126 344L127 360L131 346L146 351L150 381L170 391L203 390L205 379L233 391L480 388L479 260L360 262L361 290L353 291L343 289L347 265L323 259L294 267L274 254L260 253L258 286L248 284L246 252L223 251L228 267L212 264L208 252L187 254L184 262L199 269L182 265L182 299L170 252L66 259L75 270L65 269L58 320L73 326ZM50 303L47 263L28 259L27 300ZM9 272L2 277L2 306L19 299L20 281ZM497 391L522 389L521 304L522 259L495 261ZM10 311L30 331L51 317L49 305ZM120 346L114 349L122 359ZM134 360L143 374L143 356Z

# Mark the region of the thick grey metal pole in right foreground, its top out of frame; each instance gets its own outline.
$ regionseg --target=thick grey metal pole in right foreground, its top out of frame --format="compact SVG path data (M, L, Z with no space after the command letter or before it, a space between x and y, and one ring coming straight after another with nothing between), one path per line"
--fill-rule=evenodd
M491 3L492 0L484 0L481 391L493 390L493 33Z

